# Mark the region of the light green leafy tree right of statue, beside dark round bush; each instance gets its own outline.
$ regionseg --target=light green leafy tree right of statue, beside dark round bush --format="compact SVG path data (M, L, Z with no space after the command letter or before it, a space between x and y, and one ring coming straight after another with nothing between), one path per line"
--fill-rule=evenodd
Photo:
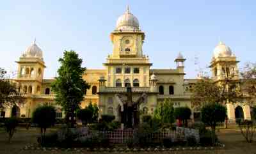
M174 122L174 108L170 99L159 102L154 111L154 118L161 119L162 123Z

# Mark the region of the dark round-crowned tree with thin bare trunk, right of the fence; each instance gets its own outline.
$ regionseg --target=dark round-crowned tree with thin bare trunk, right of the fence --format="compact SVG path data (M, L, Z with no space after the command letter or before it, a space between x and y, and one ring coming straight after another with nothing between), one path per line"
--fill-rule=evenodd
M201 109L202 122L211 127L212 143L215 143L216 124L225 121L227 108L221 104L207 104Z

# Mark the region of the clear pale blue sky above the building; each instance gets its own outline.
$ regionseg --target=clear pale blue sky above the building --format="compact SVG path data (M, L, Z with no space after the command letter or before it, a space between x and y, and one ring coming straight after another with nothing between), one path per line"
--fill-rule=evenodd
M36 38L43 50L45 78L55 77L64 50L76 50L86 68L104 68L112 52L110 33L129 5L145 32L143 53L151 68L175 68L181 52L186 79L209 71L221 40L241 61L255 62L256 1L52 1L0 3L0 67L17 71L19 57Z

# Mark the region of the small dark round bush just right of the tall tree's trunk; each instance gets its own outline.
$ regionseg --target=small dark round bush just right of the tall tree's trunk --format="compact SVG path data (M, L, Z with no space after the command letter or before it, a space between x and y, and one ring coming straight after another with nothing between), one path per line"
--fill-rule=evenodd
M93 111L88 107L85 109L79 109L77 111L77 117L81 119L83 125L87 125L88 123L92 123Z

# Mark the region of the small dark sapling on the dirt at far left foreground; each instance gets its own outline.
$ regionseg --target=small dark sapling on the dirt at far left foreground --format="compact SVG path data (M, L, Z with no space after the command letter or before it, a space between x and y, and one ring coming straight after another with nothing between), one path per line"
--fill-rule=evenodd
M8 141L11 143L11 139L16 130L16 127L19 125L19 120L15 117L8 118L4 121L4 127L6 128L6 132L8 133Z

